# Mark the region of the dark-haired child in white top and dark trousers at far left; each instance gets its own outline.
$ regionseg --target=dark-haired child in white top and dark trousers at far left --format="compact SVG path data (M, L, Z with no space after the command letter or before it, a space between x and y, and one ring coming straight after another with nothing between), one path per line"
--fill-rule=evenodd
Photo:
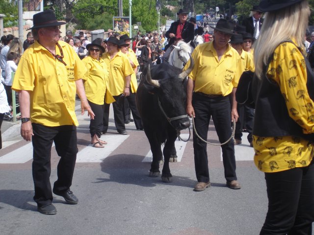
M8 104L12 108L12 72L15 72L18 68L17 64L19 63L20 55L15 52L10 52L7 54L7 61L5 66L5 79L4 79L4 88L8 99Z

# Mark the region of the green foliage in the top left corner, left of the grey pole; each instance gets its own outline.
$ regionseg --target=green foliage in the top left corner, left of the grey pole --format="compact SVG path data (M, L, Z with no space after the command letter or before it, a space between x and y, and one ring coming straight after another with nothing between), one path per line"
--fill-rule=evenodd
M18 25L18 6L15 2L9 0L0 0L0 14L3 17L3 27L12 27Z

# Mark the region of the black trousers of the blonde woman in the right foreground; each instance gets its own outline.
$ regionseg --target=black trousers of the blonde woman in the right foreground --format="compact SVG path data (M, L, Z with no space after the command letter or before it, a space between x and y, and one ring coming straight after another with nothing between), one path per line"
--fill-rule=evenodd
M260 235L312 235L314 161L307 167L265 173L268 212Z

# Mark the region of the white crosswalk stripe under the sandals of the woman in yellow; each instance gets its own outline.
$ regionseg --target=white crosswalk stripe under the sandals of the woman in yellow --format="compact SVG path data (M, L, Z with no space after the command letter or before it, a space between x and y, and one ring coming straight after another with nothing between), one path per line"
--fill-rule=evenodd
M105 148L94 148L92 144L78 152L77 163L101 163L108 157L129 135L105 135L104 140L108 142Z

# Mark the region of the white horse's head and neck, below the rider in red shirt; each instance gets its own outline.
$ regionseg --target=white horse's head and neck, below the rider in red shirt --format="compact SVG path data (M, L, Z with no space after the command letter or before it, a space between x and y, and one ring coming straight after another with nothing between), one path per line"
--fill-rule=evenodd
M177 42L174 49L170 52L168 63L179 69L183 69L184 65L190 59L190 54L192 54L193 47L190 46L191 42L185 43L183 40Z

